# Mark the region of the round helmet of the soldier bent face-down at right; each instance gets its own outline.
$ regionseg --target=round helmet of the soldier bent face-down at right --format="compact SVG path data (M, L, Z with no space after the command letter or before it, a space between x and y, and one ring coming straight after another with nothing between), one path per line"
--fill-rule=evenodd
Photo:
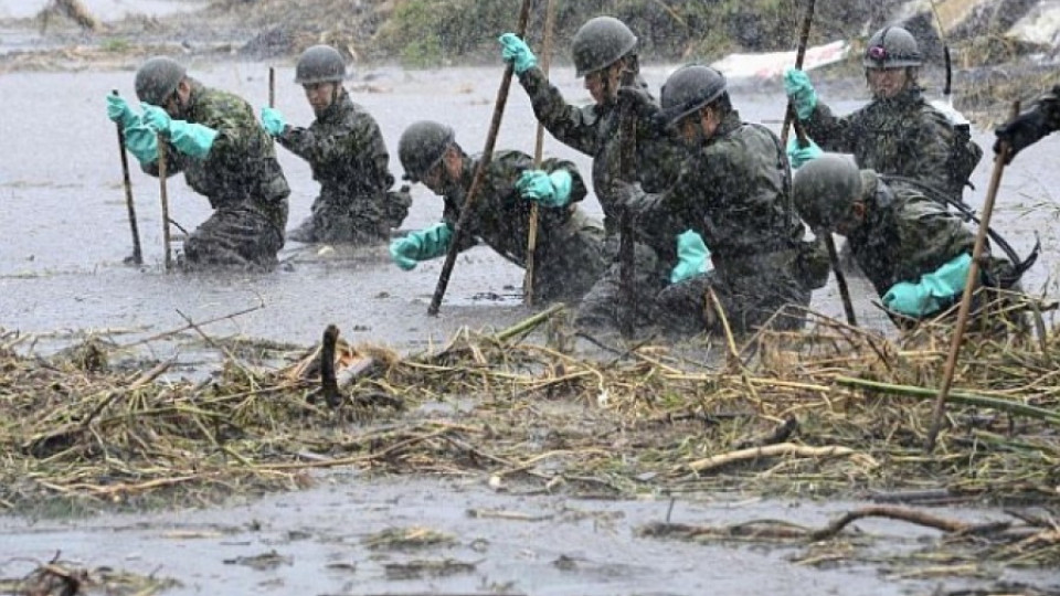
M825 153L795 171L792 194L814 230L833 230L861 195L861 171L849 156Z

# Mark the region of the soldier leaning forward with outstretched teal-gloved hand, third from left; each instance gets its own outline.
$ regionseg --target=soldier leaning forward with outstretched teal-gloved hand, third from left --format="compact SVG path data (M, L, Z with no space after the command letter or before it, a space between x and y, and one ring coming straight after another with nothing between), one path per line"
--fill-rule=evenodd
M405 178L423 182L444 199L443 221L391 243L391 256L403 269L420 260L443 256L470 190L478 160L468 157L453 130L420 121L401 136L398 155ZM601 225L577 209L585 184L573 163L548 159L541 169L519 151L498 151L486 170L467 220L459 249L487 244L511 263L524 267L531 201L540 205L534 253L533 296L541 301L576 300L610 262Z

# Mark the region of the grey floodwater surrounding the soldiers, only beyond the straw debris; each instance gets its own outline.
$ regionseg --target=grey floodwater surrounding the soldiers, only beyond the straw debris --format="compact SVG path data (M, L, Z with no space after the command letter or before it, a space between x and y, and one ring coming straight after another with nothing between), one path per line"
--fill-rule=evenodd
M658 88L670 68L648 67L648 82ZM205 84L232 89L258 105L267 99L267 64L206 63L192 64L191 70ZM402 130L417 119L445 121L469 152L480 150L499 72L383 68L359 72L349 86L354 100L378 119L391 148L392 171L400 177L394 146ZM571 68L558 68L554 78L570 100L589 100ZM289 65L280 65L276 105L289 121L308 124L311 110L292 79ZM205 320L263 306L210 331L308 343L333 322L348 339L409 349L445 338L464 324L502 327L527 315L519 299L521 269L485 247L460 255L437 318L428 317L426 310L442 259L405 273L390 263L385 247L354 253L288 243L279 255L285 265L271 274L167 275L159 184L136 169L132 187L146 264L141 268L124 265L131 241L116 132L105 116L104 96L110 89L131 95L131 72L0 77L7 141L0 157L0 322L4 327L25 332L110 331L120 333L117 341L125 342L184 324L181 313ZM774 87L763 92L734 85L733 100L744 119L778 119L783 95L778 85ZM822 95L831 99L827 89ZM845 110L855 108L858 100L840 98L833 104ZM497 147L532 152L534 128L529 100L516 86ZM992 136L981 132L977 140L988 151ZM1042 257L1024 285L1049 295L1057 294L1054 223L1060 206L1054 189L1060 171L1051 161L1058 146L1060 138L1047 138L1006 169L994 217L995 226L1021 254L1034 246L1036 235L1040 237ZM308 215L317 184L305 162L282 148L277 151L293 189L290 225L295 225ZM548 139L545 153L572 159L586 175L590 172L589 159L553 139ZM968 196L973 205L982 203L989 169L986 158L975 172L976 191ZM209 215L206 201L190 191L181 177L170 179L169 196L171 217L187 230ZM404 228L416 230L439 219L438 198L422 185L414 187L413 196ZM585 209L600 214L592 196ZM855 280L854 294L861 320L886 328L886 319L870 304L876 296L869 286ZM815 292L814 306L841 315L834 284ZM163 344L156 349L160 350L157 356L167 355Z

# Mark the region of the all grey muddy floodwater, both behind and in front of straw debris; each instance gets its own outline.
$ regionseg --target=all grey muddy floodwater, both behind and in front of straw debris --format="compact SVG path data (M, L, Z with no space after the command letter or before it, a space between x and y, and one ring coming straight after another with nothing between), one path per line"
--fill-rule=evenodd
M162 2L165 3L165 2ZM115 4L120 4L116 2ZM3 13L0 13L2 17ZM267 99L269 64L193 63L193 76L231 89L256 105ZM277 64L276 106L293 124L308 124L311 110L294 85L289 63ZM649 65L646 77L658 89L668 65ZM354 102L379 121L400 178L396 139L411 123L432 118L457 130L469 152L483 146L499 67L449 67L405 72L357 72L348 87ZM554 71L569 100L589 102L573 68ZM463 326L502 328L524 318L522 272L487 248L460 255L438 317L426 313L441 259L404 273L385 247L352 252L289 243L283 265L264 275L166 274L158 181L132 173L145 265L123 260L131 253L114 125L104 96L132 95L132 72L13 73L0 76L0 328L35 334L28 348L47 353L87 334L118 344L241 310L253 311L204 327L218 337L245 336L309 344L328 323L351 341L370 341L400 351L445 340ZM778 129L783 95L778 83L734 82L733 100L746 120ZM822 98L839 111L858 106L849 95ZM512 88L498 148L532 152L536 120L522 89ZM969 202L982 204L989 179L992 135L977 132L987 158L974 175ZM307 164L282 148L290 182L290 226L309 213L317 192ZM548 139L545 153L572 159L589 175L590 161ZM995 226L1026 255L1036 242L1042 256L1024 279L1026 289L1056 297L1057 216L1060 202L1060 136L1020 155L1005 172ZM169 182L173 220L193 230L209 215L206 201L181 177ZM441 200L422 187L403 227L436 222ZM590 198L585 209L600 206ZM866 324L886 330L872 306L876 296L852 280ZM834 284L815 294L814 307L841 317ZM187 319L186 319L187 317ZM138 352L151 359L176 356L195 374L219 354L177 336L149 342ZM999 571L968 579L910 577L886 565L840 564L822 568L799 563L802 546L704 546L637 538L635 530L667 518L665 496L643 501L570 500L559 496L517 497L487 488L487 478L367 479L336 473L316 478L316 488L197 509L174 503L171 511L102 514L74 520L0 519L0 576L28 573L56 551L87 567L113 566L172 577L181 586L167 594L931 594L999 581L1028 581L1060 592L1060 581L1041 573ZM777 518L824 524L855 502L789 502L740 496L682 497L669 513L688 523L734 523ZM506 514L476 517L468 510ZM993 510L945 511L987 521ZM415 551L371 550L362 540L388 528L424 526L451 542ZM933 531L897 523L859 523L888 536L880 556L913 551ZM248 564L269 554L268 565ZM275 556L273 556L275 555ZM467 564L445 576L396 577L410 561Z

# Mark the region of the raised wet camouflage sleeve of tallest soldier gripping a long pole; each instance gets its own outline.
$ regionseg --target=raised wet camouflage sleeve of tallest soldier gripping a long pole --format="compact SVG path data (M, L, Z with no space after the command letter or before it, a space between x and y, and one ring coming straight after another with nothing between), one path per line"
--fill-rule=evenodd
M519 76L530 96L533 114L545 129L563 145L587 156L598 152L600 136L595 106L572 106L560 89L549 83L541 68L533 67Z

